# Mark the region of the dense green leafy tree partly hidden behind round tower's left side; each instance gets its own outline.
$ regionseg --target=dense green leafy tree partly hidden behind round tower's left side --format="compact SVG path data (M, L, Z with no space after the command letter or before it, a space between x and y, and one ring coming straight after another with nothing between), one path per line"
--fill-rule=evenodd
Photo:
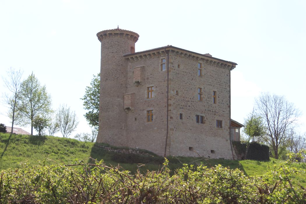
M90 86L86 87L84 100L85 118L91 126L99 126L99 98L100 98L100 73L91 80Z

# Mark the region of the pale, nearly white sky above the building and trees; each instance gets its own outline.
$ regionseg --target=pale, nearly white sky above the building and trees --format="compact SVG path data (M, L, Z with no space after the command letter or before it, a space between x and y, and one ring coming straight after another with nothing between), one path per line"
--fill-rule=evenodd
M238 65L231 71L231 118L240 123L262 91L300 109L306 132L306 1L1 0L0 73L33 71L53 109L67 104L90 132L80 100L100 72L96 34L119 28L140 35L135 51L166 45L210 53ZM0 77L0 95L7 90ZM1 100L2 101L2 100ZM0 123L11 126L0 103ZM20 127L16 125L15 127ZM31 132L29 127L21 127ZM61 136L60 133L56 135Z

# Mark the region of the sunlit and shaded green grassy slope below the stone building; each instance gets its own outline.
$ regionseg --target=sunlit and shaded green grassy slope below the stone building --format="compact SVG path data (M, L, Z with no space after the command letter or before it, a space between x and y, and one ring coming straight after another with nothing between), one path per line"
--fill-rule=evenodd
M76 160L93 163L90 158L104 160L106 165L118 164L125 170L136 172L139 168L142 172L148 170L159 170L164 159L153 153L143 151L146 155L124 154L108 151L107 145L80 142L76 139L59 138L52 136L32 136L32 135L10 135L1 133L0 136L0 171L8 168L20 168L21 163L45 162L47 165L61 163L72 164ZM113 148L114 150L115 148ZM119 149L119 148L118 148ZM129 148L120 148L129 150ZM140 150L140 152L142 152ZM169 168L172 172L182 167L182 163L200 164L203 162L207 166L221 164L231 169L240 169L247 176L263 175L268 168L273 168L274 164L282 163L282 160L271 158L270 161L253 160L224 160L224 159L203 159L192 157L168 157ZM145 164L138 167L138 164ZM297 169L306 170L305 163L294 164ZM294 182L306 186L306 174L296 175Z

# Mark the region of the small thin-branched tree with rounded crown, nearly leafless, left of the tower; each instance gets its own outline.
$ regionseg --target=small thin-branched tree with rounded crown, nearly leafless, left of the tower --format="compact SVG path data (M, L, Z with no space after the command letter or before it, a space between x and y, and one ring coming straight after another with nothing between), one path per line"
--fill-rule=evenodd
M56 121L63 137L68 137L79 124L75 111L70 111L70 107L67 107L67 105L58 108Z

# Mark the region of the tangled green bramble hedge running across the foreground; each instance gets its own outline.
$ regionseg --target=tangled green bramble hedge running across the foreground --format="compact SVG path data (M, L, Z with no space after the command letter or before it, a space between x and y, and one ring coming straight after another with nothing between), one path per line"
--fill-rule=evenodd
M168 160L159 171L135 175L103 161L71 165L23 164L0 175L0 203L306 203L306 191L291 179L299 156L260 177L221 165L183 165L171 176Z

